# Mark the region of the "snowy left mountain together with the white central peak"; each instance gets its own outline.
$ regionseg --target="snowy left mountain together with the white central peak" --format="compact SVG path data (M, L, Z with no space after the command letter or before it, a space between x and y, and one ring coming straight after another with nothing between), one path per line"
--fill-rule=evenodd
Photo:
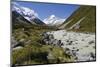
M64 22L65 19L51 15L50 17L41 21L38 18L38 13L27 7L20 6L16 3L12 3L12 21L16 24L38 24L47 26L58 26ZM14 23L13 22L13 23Z

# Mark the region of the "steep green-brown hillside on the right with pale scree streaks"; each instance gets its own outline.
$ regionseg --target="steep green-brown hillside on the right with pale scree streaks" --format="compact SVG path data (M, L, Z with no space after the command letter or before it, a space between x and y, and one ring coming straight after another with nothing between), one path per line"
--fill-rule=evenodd
M59 28L79 32L95 32L95 26L96 7L80 6Z

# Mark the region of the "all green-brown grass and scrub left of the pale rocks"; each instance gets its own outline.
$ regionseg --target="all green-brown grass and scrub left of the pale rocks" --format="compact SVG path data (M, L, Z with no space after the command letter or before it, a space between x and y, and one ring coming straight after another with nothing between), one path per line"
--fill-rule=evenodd
M65 54L61 47L43 45L39 43L39 40L41 39L41 33L56 29L39 27L36 26L35 28L35 26L26 26L24 27L24 31L22 27L16 27L13 29L12 36L16 39L16 41L24 39L24 44L26 46L21 49L13 50L12 64L26 65L71 62L73 57ZM31 41L28 42L29 40ZM50 53L53 55L54 59L47 58Z

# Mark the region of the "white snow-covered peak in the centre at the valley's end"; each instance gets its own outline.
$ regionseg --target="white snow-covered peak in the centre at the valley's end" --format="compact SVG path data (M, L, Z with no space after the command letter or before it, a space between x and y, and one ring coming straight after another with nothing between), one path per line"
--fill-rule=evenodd
M58 18L55 15L51 15L50 17L43 20L43 22L49 26L57 26L62 24L64 21L65 19Z

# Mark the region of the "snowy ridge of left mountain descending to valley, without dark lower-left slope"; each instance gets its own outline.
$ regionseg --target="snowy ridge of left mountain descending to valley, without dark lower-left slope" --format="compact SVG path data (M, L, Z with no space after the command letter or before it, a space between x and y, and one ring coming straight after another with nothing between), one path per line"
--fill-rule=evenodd
M32 24L45 24L39 19L38 14L34 10L20 6L15 2L12 2L12 12L20 14Z

